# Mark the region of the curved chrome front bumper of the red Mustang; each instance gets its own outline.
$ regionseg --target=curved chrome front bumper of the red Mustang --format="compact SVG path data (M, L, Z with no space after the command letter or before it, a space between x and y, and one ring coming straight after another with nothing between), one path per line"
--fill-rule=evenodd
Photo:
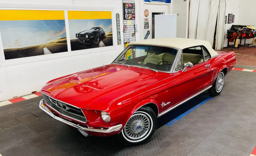
M39 108L41 110L43 110L46 114L48 114L50 117L52 117L52 118L54 118L56 120L59 120L60 122L63 122L63 123L65 123L67 125L70 125L72 127L80 129L82 131L110 133L110 132L118 131L118 130L120 130L122 128L122 124L116 125L116 126L113 126L113 127L108 127L108 129L93 129L93 128L86 128L86 127L79 126L79 124L77 125L75 123L72 123L72 122L70 122L68 120L65 120L63 118L60 118L60 117L54 115L50 109L48 109L46 106L44 106L44 99L41 99L41 101L39 102Z

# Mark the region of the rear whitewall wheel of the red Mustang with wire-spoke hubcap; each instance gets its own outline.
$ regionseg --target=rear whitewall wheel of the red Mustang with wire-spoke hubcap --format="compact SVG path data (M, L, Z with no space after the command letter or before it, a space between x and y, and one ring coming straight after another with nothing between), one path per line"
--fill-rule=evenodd
M219 95L223 89L224 81L225 81L225 74L223 71L221 71L217 76L217 78L215 79L215 82L213 83L212 87L208 90L208 92L213 96Z

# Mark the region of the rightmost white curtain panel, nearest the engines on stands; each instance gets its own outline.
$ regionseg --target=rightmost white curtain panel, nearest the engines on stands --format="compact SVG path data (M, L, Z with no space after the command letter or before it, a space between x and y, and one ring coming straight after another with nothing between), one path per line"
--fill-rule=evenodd
M225 12L226 12L226 0L219 0L219 10L217 17L217 30L216 30L216 41L215 50L223 48L225 38Z

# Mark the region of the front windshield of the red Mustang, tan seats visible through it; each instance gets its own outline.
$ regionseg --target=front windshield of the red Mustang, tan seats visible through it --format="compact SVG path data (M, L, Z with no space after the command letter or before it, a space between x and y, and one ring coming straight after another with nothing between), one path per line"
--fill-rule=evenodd
M178 50L168 47L129 45L114 62L170 71Z

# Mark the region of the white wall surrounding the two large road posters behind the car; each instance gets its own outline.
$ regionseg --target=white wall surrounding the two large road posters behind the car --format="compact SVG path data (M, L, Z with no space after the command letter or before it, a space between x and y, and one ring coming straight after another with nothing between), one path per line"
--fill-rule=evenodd
M159 3L144 3L143 0L134 0L136 7L136 20L138 24L138 33L136 33L136 41L144 39L144 10L150 11L150 30L151 30L151 13L154 11L161 11L165 14L172 13L171 4ZM8 8L7 8L8 6ZM41 87L54 78L72 74L75 72L91 69L102 66L103 64L110 64L120 52L124 49L124 35L121 32L122 45L117 45L117 28L116 28L116 13L120 13L121 31L123 27L122 18L122 0L1 0L0 9L32 9L32 10L65 10L70 7L80 7L79 9L88 10L89 8L95 10L95 7L113 8L113 44L112 48L93 48L91 50L81 50L79 52L62 52L51 54L48 56L39 56L29 58L29 63L22 62L20 59L15 61L15 65L1 64L0 58L0 101L12 99L13 97L21 97L31 94L34 91L40 91ZM58 9L56 9L58 8ZM70 9L69 9L70 10ZM72 9L71 9L72 10ZM96 9L97 10L97 9ZM68 34L67 34L68 36ZM151 38L151 35L149 36ZM0 47L1 48L1 47ZM111 49L111 50L110 50ZM65 57L63 57L65 53ZM59 56L53 57L53 56ZM41 57L46 59L37 61ZM6 61L4 62L6 63Z

